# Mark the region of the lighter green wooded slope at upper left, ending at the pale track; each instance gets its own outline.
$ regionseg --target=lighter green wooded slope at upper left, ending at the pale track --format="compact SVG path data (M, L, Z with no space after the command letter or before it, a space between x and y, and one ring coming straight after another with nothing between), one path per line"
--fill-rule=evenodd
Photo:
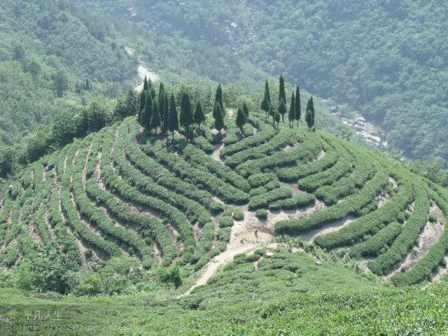
M69 1L1 1L0 22L0 145L20 143L73 104L116 97L108 82L137 72L113 21ZM93 90L76 90L85 80Z

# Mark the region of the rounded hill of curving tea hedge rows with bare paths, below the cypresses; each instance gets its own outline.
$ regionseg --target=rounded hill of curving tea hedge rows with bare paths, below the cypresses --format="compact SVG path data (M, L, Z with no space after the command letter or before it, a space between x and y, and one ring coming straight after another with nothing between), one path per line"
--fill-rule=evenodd
M183 265L206 283L239 253L301 237L396 285L437 279L448 190L325 132L265 123L209 128L176 146L134 118L29 166L3 186L1 267L62 255L73 267L133 255ZM210 120L209 120L210 121ZM193 289L193 288L191 288Z

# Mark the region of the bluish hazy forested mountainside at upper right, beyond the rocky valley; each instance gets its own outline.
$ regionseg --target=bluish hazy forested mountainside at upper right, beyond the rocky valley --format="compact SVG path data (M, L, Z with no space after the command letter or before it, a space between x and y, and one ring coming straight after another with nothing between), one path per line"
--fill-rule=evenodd
M405 155L448 158L444 1L101 0L94 5L146 22L181 45L197 45L190 55L183 53L186 65L196 67L200 59L203 73L214 80L241 77L250 83L248 64L270 74L283 72L309 92L384 125ZM158 50L168 41L160 36ZM218 66L205 70L217 65L214 55ZM218 72L222 69L228 71Z

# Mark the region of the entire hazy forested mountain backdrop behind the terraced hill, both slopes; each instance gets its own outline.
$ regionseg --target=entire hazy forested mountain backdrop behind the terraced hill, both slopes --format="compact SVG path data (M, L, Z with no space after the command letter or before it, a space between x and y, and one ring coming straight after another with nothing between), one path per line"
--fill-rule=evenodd
M347 115L360 111L383 127L401 151L397 158L447 164L446 41L435 40L444 36L446 15L434 2L20 0L0 6L2 162L11 151L3 145L34 144L39 137L29 131L46 134L41 127L57 115L76 114L92 101L111 110L110 99L127 92L141 62L171 85L239 82L249 92L283 73L316 99L339 104Z

